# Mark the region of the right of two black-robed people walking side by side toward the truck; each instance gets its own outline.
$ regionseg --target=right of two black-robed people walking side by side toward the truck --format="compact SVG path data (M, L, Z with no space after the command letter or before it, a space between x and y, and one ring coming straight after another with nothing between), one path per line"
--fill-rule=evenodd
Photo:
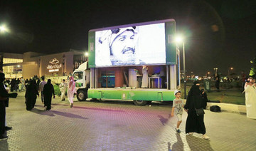
M48 79L46 85L43 86L44 110L50 110L52 97L55 98L54 88L50 82L51 80Z

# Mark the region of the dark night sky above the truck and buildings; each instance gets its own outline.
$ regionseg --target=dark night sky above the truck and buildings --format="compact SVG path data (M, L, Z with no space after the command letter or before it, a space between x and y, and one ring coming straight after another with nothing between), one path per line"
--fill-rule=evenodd
M255 8L255 0L6 0L0 4L0 25L11 33L0 35L0 52L85 51L90 29L175 19L177 33L186 37L188 73L212 74L218 68L226 75L233 67L231 73L240 75L249 73L256 56Z

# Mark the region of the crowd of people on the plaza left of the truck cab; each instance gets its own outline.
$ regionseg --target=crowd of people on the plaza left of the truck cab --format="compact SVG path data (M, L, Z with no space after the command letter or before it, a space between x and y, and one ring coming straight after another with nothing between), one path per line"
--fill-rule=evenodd
M67 91L70 108L73 108L73 98L74 93L76 93L73 76L68 78L68 83L63 79L59 87L61 99L65 100L65 93ZM14 93L9 93L9 90ZM6 80L5 74L3 71L0 71L0 140L8 138L6 131L12 129L12 127L6 124L6 107L9 106L9 98L16 98L18 95L16 92L23 90L26 90L26 110L32 110L35 107L36 98L39 95L41 95L41 101L44 104L43 110L51 109L51 101L52 98L55 98L55 91L50 79L46 82L44 77L37 78L37 76L34 76L30 80L24 80L22 77Z

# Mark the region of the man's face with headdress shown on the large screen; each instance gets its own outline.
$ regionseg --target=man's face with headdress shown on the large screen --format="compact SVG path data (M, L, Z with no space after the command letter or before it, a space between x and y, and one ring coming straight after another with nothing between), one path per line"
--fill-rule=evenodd
M110 36L110 61L112 65L138 64L136 27L112 29Z

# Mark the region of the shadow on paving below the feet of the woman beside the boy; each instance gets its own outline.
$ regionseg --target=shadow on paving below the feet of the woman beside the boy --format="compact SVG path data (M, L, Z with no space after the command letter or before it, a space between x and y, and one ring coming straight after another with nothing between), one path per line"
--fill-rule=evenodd
M201 137L196 137L193 135L186 135L186 141L191 150L209 150L213 151L210 147L210 140L204 140Z

